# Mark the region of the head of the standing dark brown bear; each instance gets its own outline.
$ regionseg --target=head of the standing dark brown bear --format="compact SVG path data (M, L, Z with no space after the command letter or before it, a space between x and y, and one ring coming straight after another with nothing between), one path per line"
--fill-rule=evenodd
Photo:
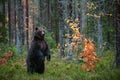
M34 38L37 40L43 40L45 36L45 30L42 28L35 28L35 35Z

